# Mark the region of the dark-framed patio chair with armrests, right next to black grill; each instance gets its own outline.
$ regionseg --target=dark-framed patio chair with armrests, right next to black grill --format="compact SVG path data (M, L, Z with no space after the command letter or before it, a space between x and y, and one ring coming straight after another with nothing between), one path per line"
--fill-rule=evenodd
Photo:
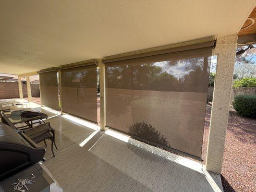
M8 117L1 111L0 112L1 121L2 123L5 123L6 125L9 125L15 130L18 130L11 120L8 119ZM21 130L19 130L21 131ZM45 145L47 146L45 140L50 139L51 140L51 151L53 156L53 144L55 145L56 149L58 150L56 144L55 144L55 130L50 126L50 123L42 123L40 125L37 125L36 127L27 128L22 130L26 136L28 136L32 141L34 141L36 144L44 141Z

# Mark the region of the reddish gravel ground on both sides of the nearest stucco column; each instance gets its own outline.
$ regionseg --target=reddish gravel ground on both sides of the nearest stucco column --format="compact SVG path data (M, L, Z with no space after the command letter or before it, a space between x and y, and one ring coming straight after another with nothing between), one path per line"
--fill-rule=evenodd
M203 159L206 159L211 106L207 105ZM230 109L222 167L224 192L256 192L256 119Z

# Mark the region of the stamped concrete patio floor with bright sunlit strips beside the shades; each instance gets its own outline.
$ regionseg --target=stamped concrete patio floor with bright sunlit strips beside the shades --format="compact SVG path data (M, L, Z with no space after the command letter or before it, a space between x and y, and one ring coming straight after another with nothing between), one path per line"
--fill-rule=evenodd
M55 157L47 141L45 166L65 192L214 192L219 176L203 166L121 133L69 115L49 119ZM42 142L40 144L44 146Z

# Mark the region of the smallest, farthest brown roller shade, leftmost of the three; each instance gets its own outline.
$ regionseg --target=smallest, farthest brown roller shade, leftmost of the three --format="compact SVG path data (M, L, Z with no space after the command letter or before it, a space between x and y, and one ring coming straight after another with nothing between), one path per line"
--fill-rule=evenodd
M41 104L59 110L57 71L39 72Z

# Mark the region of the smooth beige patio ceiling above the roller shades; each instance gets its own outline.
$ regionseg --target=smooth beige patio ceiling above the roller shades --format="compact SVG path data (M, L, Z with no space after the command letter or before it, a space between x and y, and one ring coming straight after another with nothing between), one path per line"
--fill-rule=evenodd
M255 0L0 2L0 72L237 34Z

